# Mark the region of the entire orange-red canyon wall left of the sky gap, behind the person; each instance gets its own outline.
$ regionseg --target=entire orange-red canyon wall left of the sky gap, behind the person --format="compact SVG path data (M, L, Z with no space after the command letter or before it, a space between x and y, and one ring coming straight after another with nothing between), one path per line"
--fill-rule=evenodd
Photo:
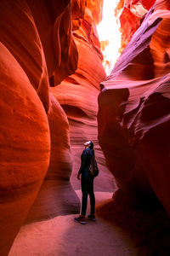
M94 142L103 177L95 189L116 189L97 138L99 83L106 79L95 27L102 6L102 0L0 3L1 255L24 222L79 212L72 186L80 189L85 141Z

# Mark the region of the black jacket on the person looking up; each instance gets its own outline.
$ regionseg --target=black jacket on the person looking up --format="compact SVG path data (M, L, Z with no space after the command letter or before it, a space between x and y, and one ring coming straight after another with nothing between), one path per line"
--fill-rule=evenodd
M85 148L82 151L82 155L81 155L81 166L78 172L79 174L89 171L91 159L92 159L92 152L90 148Z

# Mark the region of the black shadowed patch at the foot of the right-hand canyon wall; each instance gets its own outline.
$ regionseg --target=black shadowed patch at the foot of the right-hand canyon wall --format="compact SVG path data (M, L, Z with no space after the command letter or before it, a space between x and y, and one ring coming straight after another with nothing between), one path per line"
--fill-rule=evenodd
M119 195L115 200L99 206L97 212L110 224L127 231L138 255L167 256L170 251L170 220L167 212L159 202L143 202L132 207L127 201L122 201L122 195Z

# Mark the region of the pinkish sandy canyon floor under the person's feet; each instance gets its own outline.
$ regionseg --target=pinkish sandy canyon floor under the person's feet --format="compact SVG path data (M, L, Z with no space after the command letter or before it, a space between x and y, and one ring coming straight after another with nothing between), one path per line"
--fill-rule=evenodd
M81 191L76 190L81 197ZM110 192L95 192L96 208L111 200ZM89 212L89 205L88 205ZM87 212L87 213L88 213ZM75 215L58 216L26 224L20 229L8 256L128 256L137 249L128 234L116 224L101 218L82 225Z

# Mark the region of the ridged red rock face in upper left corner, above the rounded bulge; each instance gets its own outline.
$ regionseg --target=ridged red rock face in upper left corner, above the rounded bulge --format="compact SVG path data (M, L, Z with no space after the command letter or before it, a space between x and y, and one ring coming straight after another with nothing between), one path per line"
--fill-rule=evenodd
M20 63L48 112L48 72L31 11L24 0L4 0L0 15L1 42Z

